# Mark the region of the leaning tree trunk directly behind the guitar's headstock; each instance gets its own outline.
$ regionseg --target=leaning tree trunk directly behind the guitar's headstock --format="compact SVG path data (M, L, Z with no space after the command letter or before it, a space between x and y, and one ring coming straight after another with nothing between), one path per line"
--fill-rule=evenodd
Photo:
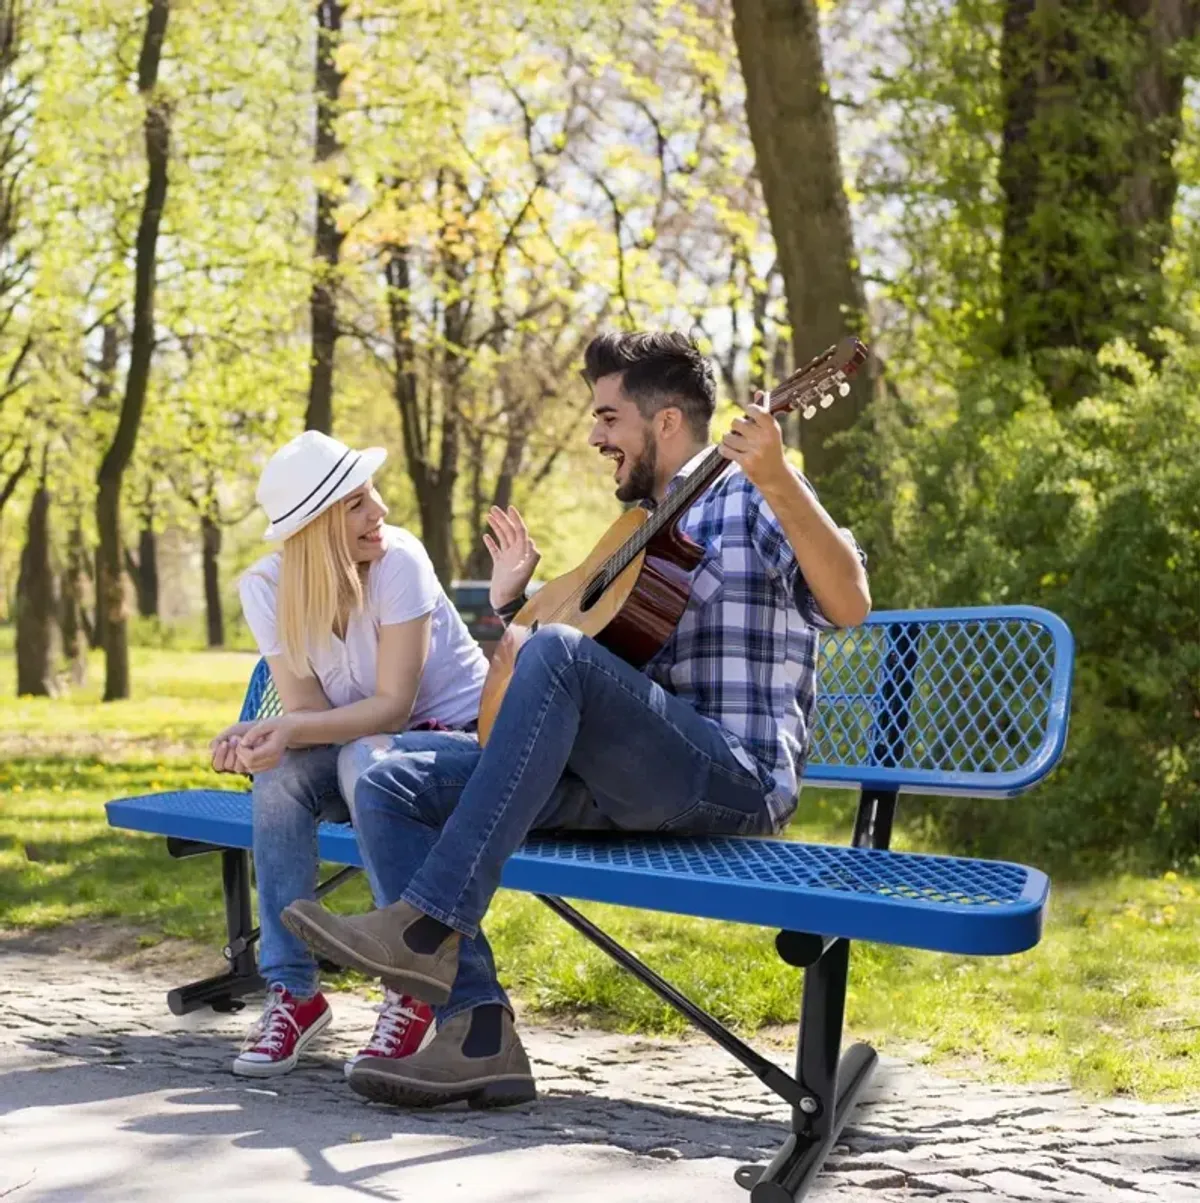
M814 0L733 0L745 109L788 294L797 365L846 333L866 333L866 300L842 183L837 125ZM804 472L828 476L845 451L830 439L866 409L874 368L801 428Z

